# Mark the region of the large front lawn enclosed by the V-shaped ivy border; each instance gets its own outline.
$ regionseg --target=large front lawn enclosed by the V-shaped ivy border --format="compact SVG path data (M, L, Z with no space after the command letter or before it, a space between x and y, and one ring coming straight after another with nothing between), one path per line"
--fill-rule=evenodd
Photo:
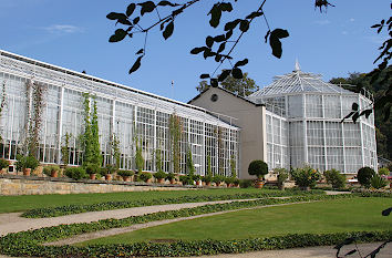
M79 244L126 244L154 239L244 239L302 233L391 230L391 198L336 199L243 210L173 223Z

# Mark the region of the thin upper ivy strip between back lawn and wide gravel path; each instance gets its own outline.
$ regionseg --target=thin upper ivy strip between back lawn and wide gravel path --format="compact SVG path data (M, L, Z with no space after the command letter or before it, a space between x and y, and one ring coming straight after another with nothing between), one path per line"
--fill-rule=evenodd
M121 208L132 208L152 205L164 205L164 204L184 204L184 203L199 203L199 202L213 202L213 200L225 200L225 199L252 199L252 198L266 198L266 197L280 197L280 196L292 196L292 195L321 195L324 194L323 190L268 190L261 193L244 193L244 194L231 194L231 195L200 195L200 196L182 196L177 198L157 198L149 200L123 200L123 202L105 202L99 204L75 204L65 205L50 208L35 208L23 213L21 216L25 218L44 218L44 217L58 217L70 214L81 214L87 211L97 210L110 210L110 209L121 209Z

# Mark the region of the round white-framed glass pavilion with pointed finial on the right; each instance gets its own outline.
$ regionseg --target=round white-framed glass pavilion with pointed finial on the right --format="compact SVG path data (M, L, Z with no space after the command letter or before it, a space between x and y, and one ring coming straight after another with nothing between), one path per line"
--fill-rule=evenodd
M321 75L302 72L297 62L293 72L276 76L248 99L266 105L270 168L308 164L345 174L363 166L376 169L373 114L341 123L354 102L360 110L372 106L373 97L365 90L359 94L323 82Z

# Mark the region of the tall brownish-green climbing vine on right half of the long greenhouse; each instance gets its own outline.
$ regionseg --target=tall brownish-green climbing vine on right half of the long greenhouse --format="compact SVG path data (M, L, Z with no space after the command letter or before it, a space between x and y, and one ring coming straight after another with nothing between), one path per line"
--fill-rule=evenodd
M171 151L172 151L172 163L173 172L178 174L180 172L180 146L179 141L183 134L183 126L180 123L180 117L176 114L171 114L168 117L168 126L171 133Z

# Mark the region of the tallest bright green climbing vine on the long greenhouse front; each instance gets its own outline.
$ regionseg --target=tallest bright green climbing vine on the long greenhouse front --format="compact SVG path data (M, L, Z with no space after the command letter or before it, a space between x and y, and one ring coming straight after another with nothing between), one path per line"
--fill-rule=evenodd
M81 137L83 144L83 166L87 166L90 164L101 166L102 155L100 149L96 101L94 99L93 110L91 111L90 94L84 93L83 97L84 133Z

